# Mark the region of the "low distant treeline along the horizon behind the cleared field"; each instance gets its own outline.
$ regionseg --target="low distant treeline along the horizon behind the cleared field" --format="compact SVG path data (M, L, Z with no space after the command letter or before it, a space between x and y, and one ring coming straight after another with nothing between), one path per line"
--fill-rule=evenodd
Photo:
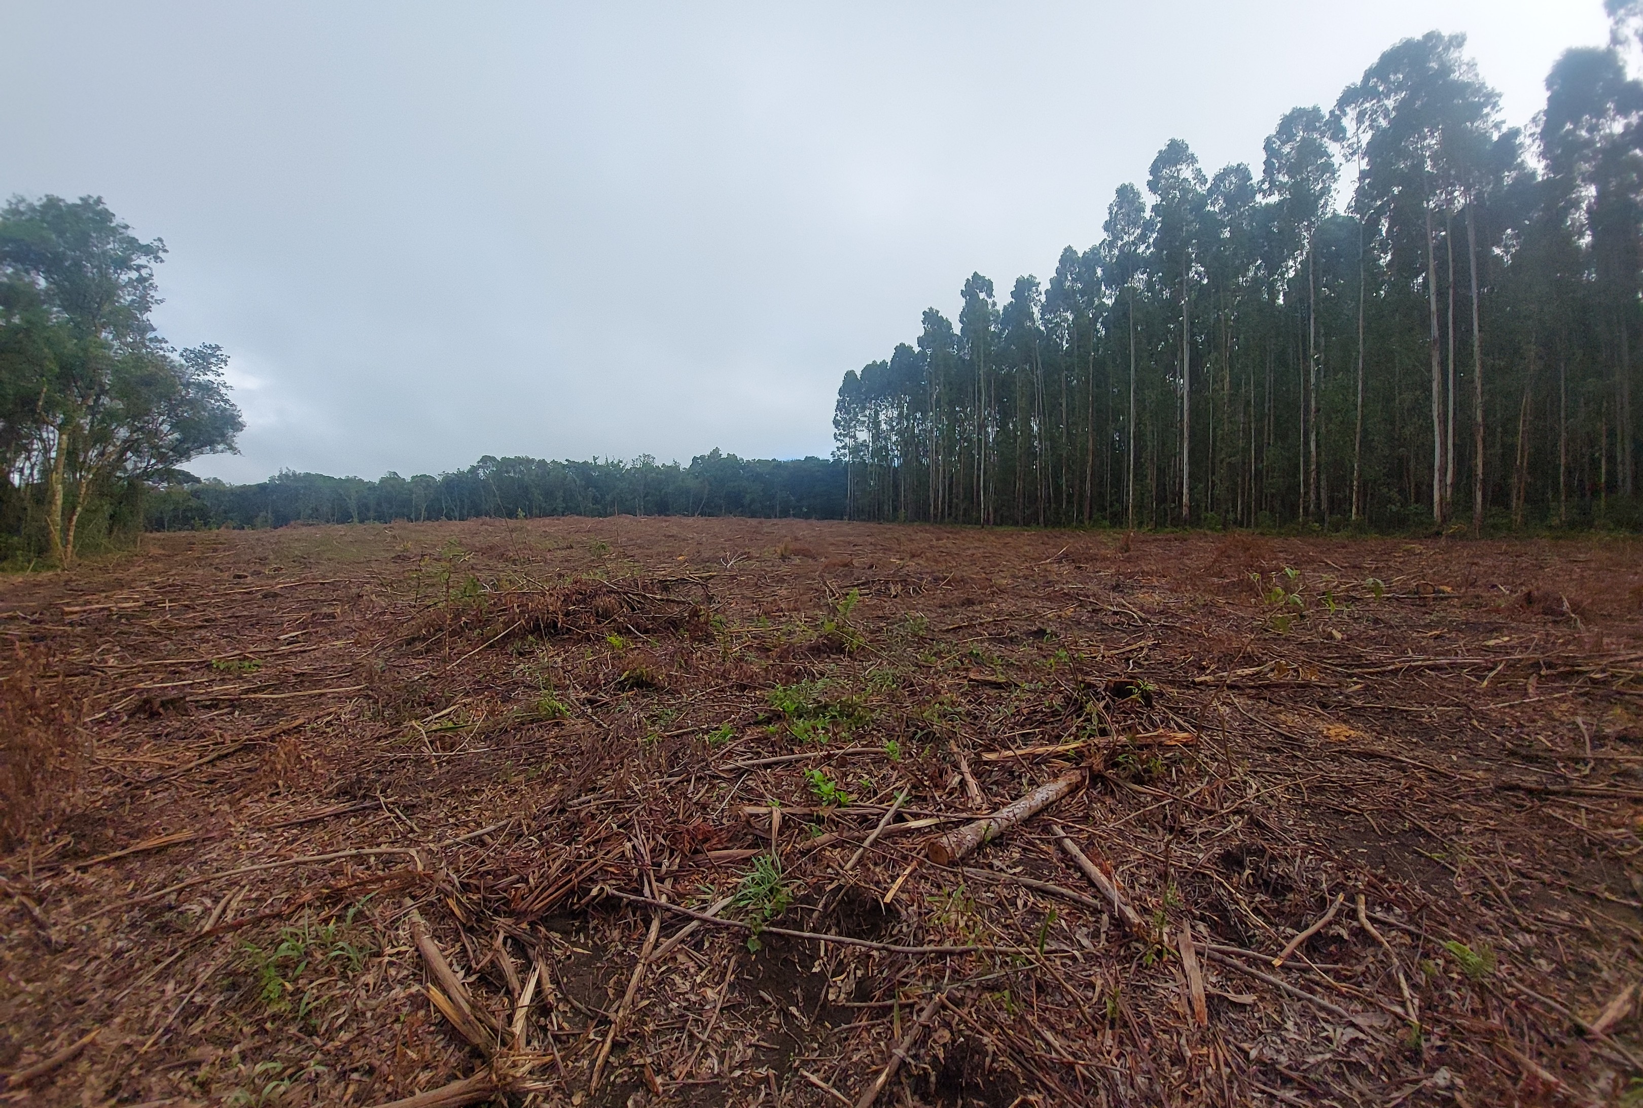
M393 523L480 516L798 516L845 518L845 464L702 454L690 465L545 462L481 457L455 473L411 478L283 472L258 485L173 483L143 501L148 529L279 528L288 523Z

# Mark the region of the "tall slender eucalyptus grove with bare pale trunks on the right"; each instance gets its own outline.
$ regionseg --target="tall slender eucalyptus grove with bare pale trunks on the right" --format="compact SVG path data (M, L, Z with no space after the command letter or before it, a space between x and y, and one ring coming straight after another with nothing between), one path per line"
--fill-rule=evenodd
M1048 286L963 284L835 409L851 513L1007 524L1636 523L1643 28L1510 128L1429 33L1214 174L1180 140Z

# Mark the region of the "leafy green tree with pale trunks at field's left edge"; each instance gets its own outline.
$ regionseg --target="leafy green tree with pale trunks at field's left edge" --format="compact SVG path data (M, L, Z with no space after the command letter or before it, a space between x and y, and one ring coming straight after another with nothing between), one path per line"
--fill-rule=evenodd
M174 350L150 322L164 253L100 197L0 209L0 511L13 542L43 526L61 566L89 519L243 426L222 347Z

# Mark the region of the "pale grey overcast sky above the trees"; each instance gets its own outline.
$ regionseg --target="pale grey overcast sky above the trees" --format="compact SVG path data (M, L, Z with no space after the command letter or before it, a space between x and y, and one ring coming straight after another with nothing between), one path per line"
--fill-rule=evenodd
M826 455L846 370L1464 31L1526 125L1602 0L0 0L0 196L164 238L245 413L202 477Z

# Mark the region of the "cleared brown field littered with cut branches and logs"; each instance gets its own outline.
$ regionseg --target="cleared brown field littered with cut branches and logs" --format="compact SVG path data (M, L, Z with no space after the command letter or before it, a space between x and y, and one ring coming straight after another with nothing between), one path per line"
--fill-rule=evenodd
M1640 607L1635 541L150 536L0 582L7 741L81 741L0 860L0 1072L44 1105L1618 1096Z

